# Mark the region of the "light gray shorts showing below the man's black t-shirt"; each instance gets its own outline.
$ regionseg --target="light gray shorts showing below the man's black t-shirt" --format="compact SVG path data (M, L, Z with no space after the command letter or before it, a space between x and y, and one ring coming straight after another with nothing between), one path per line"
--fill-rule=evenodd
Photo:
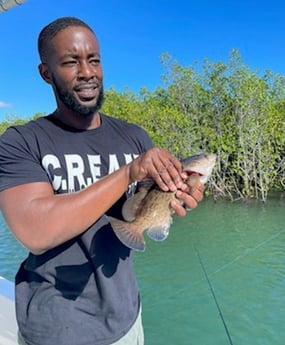
M18 332L18 344L27 345L23 339L20 332ZM144 333L142 325L142 316L141 310L136 319L136 322L133 324L133 327L129 330L127 334L123 336L120 340L112 343L110 345L143 345L144 344Z

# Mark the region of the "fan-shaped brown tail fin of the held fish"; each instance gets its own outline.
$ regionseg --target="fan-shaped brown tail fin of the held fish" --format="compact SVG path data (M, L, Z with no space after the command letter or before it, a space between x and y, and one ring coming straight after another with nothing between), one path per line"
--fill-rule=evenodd
M113 217L108 218L114 233L124 245L136 251L143 252L145 250L143 235L133 223L127 223Z

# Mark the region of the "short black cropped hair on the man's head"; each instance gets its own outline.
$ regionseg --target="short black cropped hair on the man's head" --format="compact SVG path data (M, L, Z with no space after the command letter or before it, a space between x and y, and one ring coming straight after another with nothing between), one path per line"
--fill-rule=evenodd
M45 26L39 34L38 37L38 52L42 62L46 60L46 53L47 53L47 43L55 37L59 31L64 30L70 26L82 26L86 29L93 32L91 27L86 24L83 20L76 18L76 17L62 17L54 20L47 26Z

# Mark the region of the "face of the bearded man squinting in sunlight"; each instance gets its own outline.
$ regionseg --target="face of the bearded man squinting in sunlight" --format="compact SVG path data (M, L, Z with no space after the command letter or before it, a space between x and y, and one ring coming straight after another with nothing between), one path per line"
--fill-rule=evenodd
M50 42L47 65L58 103L79 115L93 115L103 103L99 45L87 28L60 31Z

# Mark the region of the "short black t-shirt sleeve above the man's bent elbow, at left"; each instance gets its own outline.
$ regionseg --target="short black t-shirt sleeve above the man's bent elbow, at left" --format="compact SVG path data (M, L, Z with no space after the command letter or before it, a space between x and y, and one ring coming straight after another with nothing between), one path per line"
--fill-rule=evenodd
M10 127L0 137L0 191L31 182L49 182L32 133Z

